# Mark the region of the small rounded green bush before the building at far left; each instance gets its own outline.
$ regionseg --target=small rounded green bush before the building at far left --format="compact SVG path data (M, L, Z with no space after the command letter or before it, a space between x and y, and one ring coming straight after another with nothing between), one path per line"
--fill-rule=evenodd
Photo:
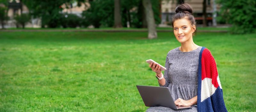
M17 24L20 24L24 29L25 24L30 20L30 16L29 14L22 13L20 15L15 15L14 19L16 20Z

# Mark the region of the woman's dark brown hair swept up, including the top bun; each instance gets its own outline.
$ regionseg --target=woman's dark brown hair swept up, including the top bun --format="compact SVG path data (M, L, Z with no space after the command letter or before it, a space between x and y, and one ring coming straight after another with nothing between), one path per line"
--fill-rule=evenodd
M173 23L176 20L186 18L190 21L191 25L196 25L196 20L195 17L192 15L193 10L191 5L184 3L184 4L179 4L176 9L175 9L176 14L172 17L172 28L173 28ZM195 32L196 33L196 29ZM194 35L193 33L193 35Z

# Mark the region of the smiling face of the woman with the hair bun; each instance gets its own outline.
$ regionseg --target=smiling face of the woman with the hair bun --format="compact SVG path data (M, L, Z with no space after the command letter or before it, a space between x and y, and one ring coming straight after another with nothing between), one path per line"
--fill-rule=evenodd
M190 21L185 18L173 22L173 33L180 43L192 40L195 29L196 26L192 26Z

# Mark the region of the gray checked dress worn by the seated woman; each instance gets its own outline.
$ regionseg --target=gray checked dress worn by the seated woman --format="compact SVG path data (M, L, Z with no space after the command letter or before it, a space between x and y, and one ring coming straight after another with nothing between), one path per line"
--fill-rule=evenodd
M197 96L198 60L201 49L200 46L190 52L181 52L177 47L168 52L165 61L167 69L164 71L166 82L163 87L169 88L174 101L178 98L190 100ZM181 110L150 107L147 112L197 112L197 108L196 105L193 105L193 108Z

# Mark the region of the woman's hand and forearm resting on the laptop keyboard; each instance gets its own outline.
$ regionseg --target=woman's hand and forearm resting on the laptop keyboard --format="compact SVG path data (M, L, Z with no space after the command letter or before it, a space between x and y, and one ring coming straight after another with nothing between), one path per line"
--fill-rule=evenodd
M178 98L176 101L174 101L175 105L177 106L191 106L197 104L197 96L190 100L183 100L181 98Z

